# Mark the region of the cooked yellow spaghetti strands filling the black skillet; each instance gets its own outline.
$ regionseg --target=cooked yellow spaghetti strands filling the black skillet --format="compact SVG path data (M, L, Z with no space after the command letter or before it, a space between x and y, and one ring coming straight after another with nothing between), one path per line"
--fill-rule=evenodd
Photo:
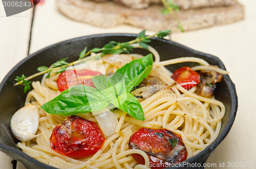
M138 47L138 45L134 45ZM209 64L198 58L178 58L160 62L157 51L150 47L149 50L155 56L152 75L157 76L163 83L169 85L170 89L161 89L146 99L138 99L144 114L145 120L139 121L127 115L126 112L115 109L114 115L118 119L115 134L105 140L104 146L94 155L73 159L68 156L53 151L50 147L49 138L55 126L67 118L67 116L50 115L44 110L39 111L39 127L36 138L28 142L18 143L18 147L31 157L58 168L141 168L131 154L140 154L144 160L144 168L148 168L149 158L141 150L130 149L128 142L132 133L141 127L166 128L175 133L179 133L185 144L187 158L195 156L206 146L211 144L220 132L221 119L225 114L225 106L222 102L215 100L214 96L205 98L197 95L196 87L186 90L170 77L172 75L164 66L181 62L197 62L203 66L192 68L193 70L209 69L219 73L228 73L219 68L209 66ZM97 70L101 61L91 64ZM92 66L94 65L94 66ZM118 65L103 62L105 72L109 75L118 69ZM102 70L102 67L100 68ZM32 82L33 90L26 98L26 104L40 106L60 92L57 90L56 80L58 74L51 73L50 78L46 75L41 82ZM131 92L134 96L141 93L150 86L145 86ZM78 114L77 116L97 123L92 114Z

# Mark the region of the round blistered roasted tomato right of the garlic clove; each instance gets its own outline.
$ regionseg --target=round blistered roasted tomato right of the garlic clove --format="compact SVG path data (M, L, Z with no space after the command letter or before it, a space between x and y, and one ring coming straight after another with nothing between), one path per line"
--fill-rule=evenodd
M105 136L99 126L78 116L70 116L52 131L52 150L79 159L95 154L102 148Z

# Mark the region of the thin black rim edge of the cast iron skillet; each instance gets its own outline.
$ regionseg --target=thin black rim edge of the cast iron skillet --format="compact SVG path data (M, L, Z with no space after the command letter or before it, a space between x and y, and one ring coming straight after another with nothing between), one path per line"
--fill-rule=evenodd
M90 35L90 36L83 36L83 37L78 37L78 38L74 38L74 39L69 39L69 40L66 40L66 41L61 41L61 42L58 42L58 43L55 43L55 44L52 44L50 46L47 46L45 48L42 48L30 55L28 55L28 57L26 57L25 59L23 59L22 61L20 61L18 64L16 64L9 72L8 74L4 77L4 79L2 80L1 84L0 84L0 91L2 91L2 88L3 86L5 85L6 81L8 80L9 76L15 71L16 67L19 67L20 65L22 65L23 63L27 62L30 58L34 57L35 55L37 55L37 53L40 53L44 50L48 50L50 48L52 48L53 46L55 45L61 45L61 44L65 44L65 43L70 43L70 42L73 42L73 41L77 41L77 40L84 40L84 39L87 39L87 38L94 38L94 37L113 37L113 36L127 36L127 37L137 37L136 34L123 34L123 33L115 33L115 34L97 34L97 35ZM211 54L207 54L207 53L203 53L203 52L200 52L200 51L197 51L197 50L194 50L194 49L191 49L187 46L184 46L182 44L179 44L177 42L174 42L174 41L170 41L170 40L165 40L165 39L159 39L159 38L156 38L156 37L153 37L151 38L153 40L158 40L158 41L163 41L165 43L169 43L169 44L172 44L172 45L176 45L178 47L181 47L185 50L188 50L192 53L196 53L196 54L200 54L202 55L203 57L207 57L207 58L211 58L211 59L214 59L216 60L219 65L220 65L220 68L225 69L225 66L224 64L221 62L221 60L217 57L215 57L214 55L211 55ZM206 147L204 150L202 150L200 153L198 153L197 155L195 155L194 157L190 157L189 159L185 160L184 161L184 164L186 163L205 163L206 159L208 158L208 156L210 155L210 153L212 151L214 151L214 149L222 142L222 140L226 137L226 135L228 134L228 132L230 131L231 129L231 126L234 122L234 119L236 118L236 113L237 113L237 109L238 109L238 96L237 96L237 93L236 93L236 87L234 86L234 83L232 82L232 80L230 79L229 75L226 75L227 77L227 83L229 85L229 90L232 90L233 91L233 103L232 103L232 107L231 107L231 111L230 111L230 116L229 116L229 119L227 121L227 124L225 125L223 131L221 132L220 135L218 135L218 137L215 139L214 142L212 142L208 147ZM42 162L39 162L38 160L30 157L29 155L25 154L24 152L18 150L18 149L15 149L15 148L11 148L9 146L6 146L6 145L3 145L0 143L0 148L1 148L1 151L3 151L4 153L6 153L7 155L9 156L12 156L10 154L14 153L17 155L17 157L20 157L20 158L17 158L17 160L22 160L22 159L25 159L25 160L28 160L29 163L32 162L34 163L35 165L39 165L41 167L44 167L44 168L55 168L55 167L52 167L52 166L49 166L47 164L44 164ZM186 165L184 165L186 167ZM179 168L179 167L175 167L175 168ZM184 167L183 167L184 168Z

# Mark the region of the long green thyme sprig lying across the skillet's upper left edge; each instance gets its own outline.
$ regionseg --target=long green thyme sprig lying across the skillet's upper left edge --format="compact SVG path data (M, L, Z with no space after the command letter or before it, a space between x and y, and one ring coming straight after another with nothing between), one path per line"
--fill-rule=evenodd
M57 62L55 62L54 64L52 64L50 67L47 66L40 66L37 68L38 73L35 73L29 77L26 77L24 74L21 77L16 77L16 83L14 84L14 86L17 85L24 85L24 92L26 93L27 91L30 90L30 83L31 81L29 81L30 79L37 77L39 75L48 73L46 78L50 77L50 73L54 72L54 73L60 73L66 70L67 67L71 66L71 65L76 65L79 63L84 63L84 62L88 62L90 60L94 60L96 57L105 55L105 54L119 54L119 53L130 53L133 50L133 46L131 44L133 43L139 43L139 45L145 49L148 48L146 43L151 42L150 38L157 36L158 38L164 38L165 36L168 36L170 34L169 30L163 30L163 31L159 31L158 33L151 35L151 36L146 36L145 35L145 30L143 30L142 32L140 32L138 34L138 36L129 42L115 42L115 41L110 41L108 44L104 45L102 48L93 48L89 51L87 51L88 47L84 48L79 55L79 59L77 61L71 62L71 63L67 63L66 60L68 58L64 58L61 59ZM96 55L91 55L90 57L88 57L89 54L91 54L92 52L97 52Z

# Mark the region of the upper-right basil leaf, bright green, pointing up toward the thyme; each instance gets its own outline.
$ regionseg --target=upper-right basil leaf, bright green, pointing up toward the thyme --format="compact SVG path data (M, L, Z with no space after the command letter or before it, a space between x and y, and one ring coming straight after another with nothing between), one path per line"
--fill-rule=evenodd
M145 57L125 64L120 69L117 69L116 73L111 79L117 83L120 81L120 74L123 75L123 79L126 86L126 92L130 92L133 87L137 86L143 78L150 74L153 68L153 57L152 54L148 54Z

